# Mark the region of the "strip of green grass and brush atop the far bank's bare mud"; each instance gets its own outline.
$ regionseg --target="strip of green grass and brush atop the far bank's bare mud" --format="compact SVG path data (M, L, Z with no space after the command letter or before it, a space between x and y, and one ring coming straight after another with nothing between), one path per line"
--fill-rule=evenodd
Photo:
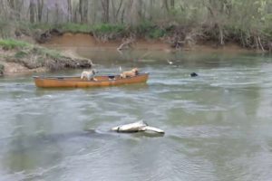
M25 27L22 26L22 28ZM272 30L250 30L233 24L222 26L201 26L188 24L154 24L143 21L135 26L125 24L29 24L28 34L33 34L39 43L48 41L53 35L63 33L90 33L98 41L147 39L160 40L169 43L172 48L182 48L194 43L213 43L214 46L224 46L236 43L248 49L271 50ZM22 33L25 29L20 29Z

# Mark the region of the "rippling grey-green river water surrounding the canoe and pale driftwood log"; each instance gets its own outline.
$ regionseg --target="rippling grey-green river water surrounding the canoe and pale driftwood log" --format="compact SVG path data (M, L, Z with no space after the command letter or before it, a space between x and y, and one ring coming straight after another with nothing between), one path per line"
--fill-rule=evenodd
M137 66L150 79L49 90L31 75L1 78L0 180L272 179L271 56L77 52L101 74ZM108 131L140 119L166 134Z

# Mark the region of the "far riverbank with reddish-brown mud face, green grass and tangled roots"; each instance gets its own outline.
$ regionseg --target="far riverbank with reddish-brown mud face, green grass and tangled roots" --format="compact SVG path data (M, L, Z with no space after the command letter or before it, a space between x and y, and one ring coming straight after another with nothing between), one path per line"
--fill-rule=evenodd
M217 28L185 26L180 24L153 24L143 22L137 26L125 24L56 24L33 26L33 37L37 43L69 44L69 38L80 41L79 46L116 47L126 49L172 49L194 50L198 47L227 49L235 45L239 50L267 52L272 50L271 33L251 33L241 29L225 27L222 33ZM23 31L24 32L24 31ZM81 40L82 39L82 40ZM86 40L85 40L86 39ZM76 43L75 43L76 44ZM152 45L152 47L151 47Z

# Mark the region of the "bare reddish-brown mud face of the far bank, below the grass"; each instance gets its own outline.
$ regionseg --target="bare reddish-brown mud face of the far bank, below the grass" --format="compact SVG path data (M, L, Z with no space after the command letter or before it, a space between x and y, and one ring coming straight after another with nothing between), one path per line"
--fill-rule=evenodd
M92 34L89 33L63 33L61 35L52 36L45 43L45 47L89 47L92 49L112 49L117 50L126 40L112 40L107 42L98 41ZM172 48L170 43L163 40L148 40L138 39L133 40L130 45L124 46L123 50L152 50L163 52L176 52L176 51L203 51L203 52L256 52L240 47L235 43L227 43L224 46L217 46L216 43L193 43L185 44L178 48Z

